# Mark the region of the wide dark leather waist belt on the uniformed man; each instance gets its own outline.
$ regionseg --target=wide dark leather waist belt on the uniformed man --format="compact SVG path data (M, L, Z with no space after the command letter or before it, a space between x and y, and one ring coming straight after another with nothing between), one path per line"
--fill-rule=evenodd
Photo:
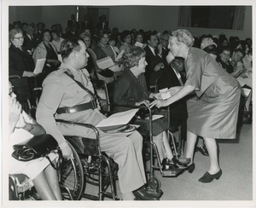
M84 104L80 104L74 107L59 107L57 109L57 113L61 114L61 113L76 113L79 111L84 111L84 110L88 110L88 109L95 109L97 108L97 103L96 101L90 101L90 102L86 102Z

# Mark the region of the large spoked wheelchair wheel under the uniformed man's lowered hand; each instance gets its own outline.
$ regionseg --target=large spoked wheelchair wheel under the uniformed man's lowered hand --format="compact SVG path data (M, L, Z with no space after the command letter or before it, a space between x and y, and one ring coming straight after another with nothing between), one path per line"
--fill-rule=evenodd
M72 149L73 159L63 159L61 162L61 194L64 199L79 200L84 191L84 171L79 154L70 143L69 147Z

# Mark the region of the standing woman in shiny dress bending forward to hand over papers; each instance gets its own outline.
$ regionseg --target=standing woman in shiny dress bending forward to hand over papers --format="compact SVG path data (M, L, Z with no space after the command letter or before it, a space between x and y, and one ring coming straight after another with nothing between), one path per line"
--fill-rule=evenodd
M187 72L182 87L171 88L171 97L156 100L150 107L166 107L195 91L199 100L189 102L186 158L191 159L189 173L195 169L193 160L197 136L203 137L210 156L210 168L199 182L219 179L218 146L215 139L235 139L241 88L236 78L218 66L205 51L193 48L194 38L184 29L172 32L169 48L173 56L182 56Z

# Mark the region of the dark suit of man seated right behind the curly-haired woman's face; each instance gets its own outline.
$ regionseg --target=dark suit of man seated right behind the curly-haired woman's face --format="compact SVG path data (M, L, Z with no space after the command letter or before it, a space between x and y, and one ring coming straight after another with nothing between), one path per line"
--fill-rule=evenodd
M144 48L144 50L146 52L146 61L148 63L145 72L147 85L154 85L156 83L156 80L161 77L163 72L163 69L160 69L160 71L155 72L154 67L160 62L164 63L164 61L159 55L154 55L148 45Z

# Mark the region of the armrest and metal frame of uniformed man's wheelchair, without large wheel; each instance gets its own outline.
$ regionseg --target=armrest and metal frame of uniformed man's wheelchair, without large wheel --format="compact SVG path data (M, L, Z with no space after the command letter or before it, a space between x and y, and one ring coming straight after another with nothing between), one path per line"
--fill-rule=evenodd
M78 193L77 199L103 200L107 197L109 199L119 200L115 187L115 182L118 180L118 165L106 153L102 153L99 145L99 132L96 127L91 124L80 124L61 119L56 119L56 122L81 125L84 128L90 128L96 135L96 139L80 136L65 136L71 147L73 147L73 153L75 152L79 157L79 165L82 166L82 170L79 173L83 176L80 177L79 188L76 191ZM97 194L85 193L85 185L87 183L98 187ZM69 189L74 189L73 183L70 187ZM108 191L109 187L110 191Z

